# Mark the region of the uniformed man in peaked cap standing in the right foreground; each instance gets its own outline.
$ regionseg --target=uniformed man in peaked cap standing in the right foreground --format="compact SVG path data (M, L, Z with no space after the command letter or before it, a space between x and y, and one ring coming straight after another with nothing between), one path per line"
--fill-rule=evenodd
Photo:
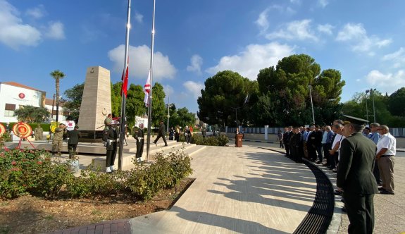
M337 188L343 192L349 216L349 233L373 233L374 194L378 186L373 175L375 151L373 141L361 131L366 120L345 116L344 135L340 147Z

